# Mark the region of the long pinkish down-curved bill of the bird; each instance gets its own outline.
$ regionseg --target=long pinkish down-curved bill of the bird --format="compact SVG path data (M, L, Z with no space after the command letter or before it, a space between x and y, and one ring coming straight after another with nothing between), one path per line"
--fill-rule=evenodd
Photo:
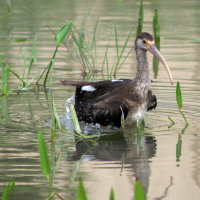
M163 58L163 56L161 55L161 53L159 52L159 50L156 48L155 44L152 43L152 44L148 44L148 50L154 55L156 56L160 62L164 65L165 69L167 70L167 73L169 75L169 79L170 79L170 82L171 84L173 85L173 78L172 78L172 74L171 74L171 71L165 61L165 59Z

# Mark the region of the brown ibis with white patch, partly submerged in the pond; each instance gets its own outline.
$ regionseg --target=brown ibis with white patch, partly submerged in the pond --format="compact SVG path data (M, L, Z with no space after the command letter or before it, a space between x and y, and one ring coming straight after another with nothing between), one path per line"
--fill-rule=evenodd
M156 96L150 89L147 51L164 65L173 84L170 69L156 48L152 35L143 32L135 40L137 73L133 80L61 81L63 85L76 86L75 110L79 121L120 127L123 115L125 125L131 126L143 119L146 111L156 108Z

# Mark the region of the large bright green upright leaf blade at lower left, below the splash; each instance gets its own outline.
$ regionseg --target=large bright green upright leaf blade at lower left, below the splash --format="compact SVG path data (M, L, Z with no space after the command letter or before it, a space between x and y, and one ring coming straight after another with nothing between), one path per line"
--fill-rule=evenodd
M49 162L48 151L42 132L38 133L38 144L39 144L39 154L40 154L40 167L42 169L43 174L46 176L47 181L49 182L51 165Z

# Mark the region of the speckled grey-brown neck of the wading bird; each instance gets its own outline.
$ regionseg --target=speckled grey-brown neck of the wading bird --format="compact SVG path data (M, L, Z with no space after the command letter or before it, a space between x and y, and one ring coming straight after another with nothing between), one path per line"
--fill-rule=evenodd
M147 62L147 52L142 49L136 49L137 73L136 83L143 89L149 89L151 84L149 65Z

